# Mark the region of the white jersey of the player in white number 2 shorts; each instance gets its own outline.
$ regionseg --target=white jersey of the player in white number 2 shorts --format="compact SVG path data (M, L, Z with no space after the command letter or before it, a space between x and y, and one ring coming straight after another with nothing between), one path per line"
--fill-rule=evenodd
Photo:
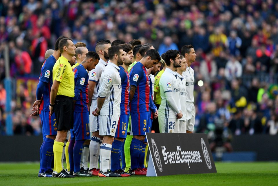
M122 81L119 70L120 68L111 62L103 69L100 78L100 87L98 89L98 97L105 97L105 101L100 110L100 115L121 114Z

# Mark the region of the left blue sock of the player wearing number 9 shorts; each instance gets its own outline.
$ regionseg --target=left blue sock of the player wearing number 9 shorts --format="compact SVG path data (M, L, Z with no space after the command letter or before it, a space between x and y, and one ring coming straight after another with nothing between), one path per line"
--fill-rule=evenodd
M136 169L138 167L138 159L140 154L140 144L141 140L132 138L130 144L130 167L131 169Z

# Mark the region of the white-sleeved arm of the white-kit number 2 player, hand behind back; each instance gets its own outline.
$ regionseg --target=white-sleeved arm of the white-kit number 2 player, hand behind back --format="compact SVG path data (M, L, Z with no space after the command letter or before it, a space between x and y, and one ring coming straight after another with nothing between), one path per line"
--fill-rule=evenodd
M98 107L96 108L95 112L93 111L93 113L92 113L94 116L99 115L100 110L103 106L105 97L107 95L107 92L109 91L113 81L115 80L115 75L106 71L106 72L103 72L102 78L103 78L103 81L98 89L98 99L97 99Z

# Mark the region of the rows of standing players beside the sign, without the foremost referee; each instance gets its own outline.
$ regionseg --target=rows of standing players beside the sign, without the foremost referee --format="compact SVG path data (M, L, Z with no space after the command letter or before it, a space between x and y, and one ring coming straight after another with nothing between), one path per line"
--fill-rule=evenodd
M53 176L57 125L55 115L49 115L48 103L52 69L61 55L58 45L63 38L57 39L54 53L42 66L34 103L33 115L38 112L36 106L40 107L44 136L39 177ZM63 175L68 175L63 177L146 175L145 132L151 131L153 120L153 128L159 126L159 132L193 132L193 47L182 47L185 57L177 50L169 50L162 54L163 60L152 45L138 42L133 40L131 45L115 40L111 47L109 40L102 40L96 45L96 53L89 52L84 43L75 45L75 55L69 61L75 79L74 127L70 142L65 142L67 171ZM63 165L63 156L58 161ZM54 167L58 161L54 160Z

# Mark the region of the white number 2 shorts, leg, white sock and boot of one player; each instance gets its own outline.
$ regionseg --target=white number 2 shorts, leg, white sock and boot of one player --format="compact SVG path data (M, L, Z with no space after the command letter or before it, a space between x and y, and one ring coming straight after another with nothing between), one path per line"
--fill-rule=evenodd
M120 115L100 115L99 134L103 135L103 143L100 146L100 171L99 177L121 177L120 174L112 172L109 168L112 143L116 133Z

